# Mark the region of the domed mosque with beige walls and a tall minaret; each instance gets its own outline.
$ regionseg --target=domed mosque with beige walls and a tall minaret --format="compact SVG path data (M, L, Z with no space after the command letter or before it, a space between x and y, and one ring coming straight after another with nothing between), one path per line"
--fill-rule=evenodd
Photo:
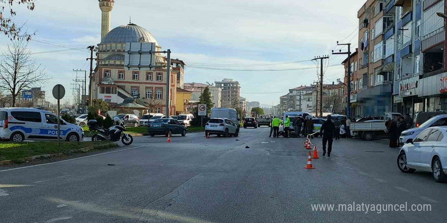
M98 62L93 73L92 97L109 102L117 114L135 114L139 117L146 113L166 114L166 54L155 55L155 68L125 69L126 44L154 43L155 51L162 51L162 47L149 31L133 23L110 30L114 2L99 0L102 12L101 43L97 47ZM184 66L183 61L171 59L170 115L175 114L177 87L183 87ZM124 99L129 97L135 100L126 103Z

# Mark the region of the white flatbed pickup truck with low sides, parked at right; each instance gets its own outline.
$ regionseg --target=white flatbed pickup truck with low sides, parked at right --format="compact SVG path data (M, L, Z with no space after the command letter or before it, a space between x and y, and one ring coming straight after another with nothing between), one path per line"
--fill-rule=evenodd
M366 141L371 141L375 138L388 137L388 130L385 126L386 120L391 118L397 121L399 117L402 117L400 113L386 113L384 120L370 120L365 122L353 122L349 125L350 131L353 137L361 138Z

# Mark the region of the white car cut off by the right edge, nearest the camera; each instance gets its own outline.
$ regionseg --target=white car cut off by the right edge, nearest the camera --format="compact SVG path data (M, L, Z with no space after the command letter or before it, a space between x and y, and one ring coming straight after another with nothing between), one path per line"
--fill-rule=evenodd
M404 173L423 170L433 173L436 182L447 181L447 127L430 127L414 140L408 139L397 157L397 166Z

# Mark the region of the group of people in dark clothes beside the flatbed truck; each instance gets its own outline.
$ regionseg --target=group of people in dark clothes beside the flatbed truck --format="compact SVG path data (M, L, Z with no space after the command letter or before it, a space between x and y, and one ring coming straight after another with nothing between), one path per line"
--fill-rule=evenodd
M413 120L411 119L410 114L406 114L405 118L399 117L397 122L388 118L387 122L385 122L385 126L387 127L390 138L390 148L398 148L399 136L403 131L413 126Z

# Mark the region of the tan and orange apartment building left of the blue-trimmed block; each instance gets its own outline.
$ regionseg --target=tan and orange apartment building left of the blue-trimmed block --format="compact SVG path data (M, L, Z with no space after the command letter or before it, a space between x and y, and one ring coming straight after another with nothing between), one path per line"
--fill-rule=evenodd
M362 80L362 90L356 94L357 116L379 116L392 109L394 44L387 49L387 40L394 33L394 15L386 12L386 6L385 1L368 0L357 14L357 76ZM353 82L359 84L358 80Z

